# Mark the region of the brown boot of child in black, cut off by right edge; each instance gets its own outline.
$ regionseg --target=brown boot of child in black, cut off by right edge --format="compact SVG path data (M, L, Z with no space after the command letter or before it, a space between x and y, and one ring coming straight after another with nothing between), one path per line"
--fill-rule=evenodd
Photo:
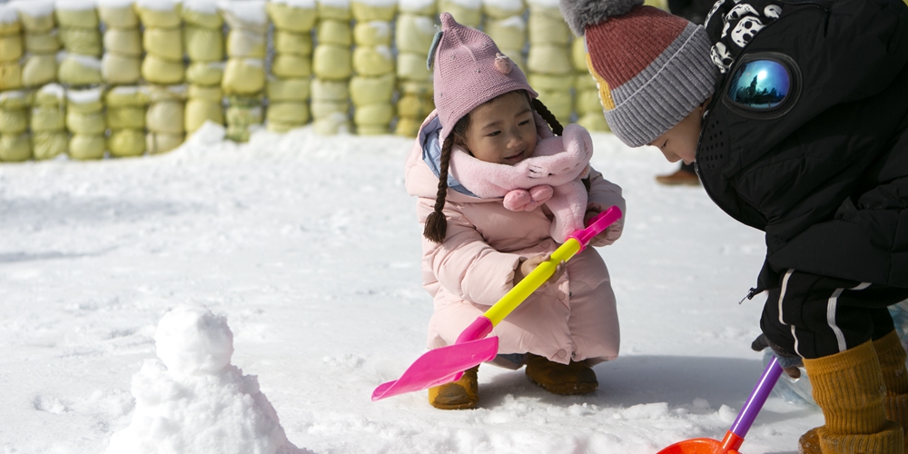
M883 408L886 419L902 426L902 433L908 433L908 369L905 369L905 350L899 335L892 331L873 341L873 350L880 360L883 371L883 383L886 385L886 397ZM908 453L908 437L905 438L905 450Z

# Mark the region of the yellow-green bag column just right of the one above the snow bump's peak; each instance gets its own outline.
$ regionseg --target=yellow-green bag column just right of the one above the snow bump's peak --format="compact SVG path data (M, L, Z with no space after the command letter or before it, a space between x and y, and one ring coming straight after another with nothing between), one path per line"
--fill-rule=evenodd
M247 0L222 2L221 14L227 34L227 65L221 88L227 95L228 139L248 142L253 130L262 125L265 90L265 56L268 54L268 15L265 2Z

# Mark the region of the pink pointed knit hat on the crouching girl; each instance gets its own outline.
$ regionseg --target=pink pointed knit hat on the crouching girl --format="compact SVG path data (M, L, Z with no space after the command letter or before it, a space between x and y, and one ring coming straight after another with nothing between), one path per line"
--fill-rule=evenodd
M441 13L440 19L441 32L429 50L429 65L434 56L442 143L460 118L499 94L526 90L530 98L538 96L523 71L500 53L489 35L459 25L449 13Z

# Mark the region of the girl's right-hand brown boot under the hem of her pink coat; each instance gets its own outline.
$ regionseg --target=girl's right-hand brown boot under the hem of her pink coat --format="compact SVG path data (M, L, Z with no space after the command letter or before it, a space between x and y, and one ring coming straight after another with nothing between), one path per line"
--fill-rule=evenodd
M596 372L586 361L561 364L533 353L527 353L527 377L552 394L585 394L599 387Z

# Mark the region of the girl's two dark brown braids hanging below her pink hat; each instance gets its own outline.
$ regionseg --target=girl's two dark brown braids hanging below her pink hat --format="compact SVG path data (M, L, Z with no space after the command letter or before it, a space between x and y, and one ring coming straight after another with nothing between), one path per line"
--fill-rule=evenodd
M527 92L523 93L529 98ZM533 107L533 110L548 123L549 127L552 128L552 133L555 133L555 135L564 133L564 126L562 126L561 123L558 122L558 119L555 118L555 115L548 110L546 104L542 104L542 101L539 101L538 98L530 100L529 104ZM464 115L454 124L451 133L449 133L448 137L445 138L445 142L441 145L439 192L435 196L434 211L429 213L429 217L426 218L426 227L422 231L422 236L426 237L430 242L440 244L445 241L445 237L448 235L448 219L445 217L445 213L442 212L442 209L445 207L445 195L448 194L448 167L451 158L451 148L453 148L454 143L463 143L464 137L467 135L468 127L469 114Z

